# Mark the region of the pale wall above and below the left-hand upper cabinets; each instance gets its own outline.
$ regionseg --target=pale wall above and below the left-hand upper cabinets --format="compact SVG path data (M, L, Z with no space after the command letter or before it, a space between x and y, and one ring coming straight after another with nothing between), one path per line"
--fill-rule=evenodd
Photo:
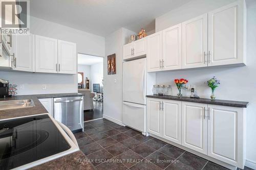
M33 34L77 43L77 52L95 56L105 56L105 38L94 34L62 26L43 19L30 18L30 32ZM21 94L77 92L77 75L40 74L27 72L2 72L0 78L14 84L24 84ZM47 89L42 90L46 84Z

